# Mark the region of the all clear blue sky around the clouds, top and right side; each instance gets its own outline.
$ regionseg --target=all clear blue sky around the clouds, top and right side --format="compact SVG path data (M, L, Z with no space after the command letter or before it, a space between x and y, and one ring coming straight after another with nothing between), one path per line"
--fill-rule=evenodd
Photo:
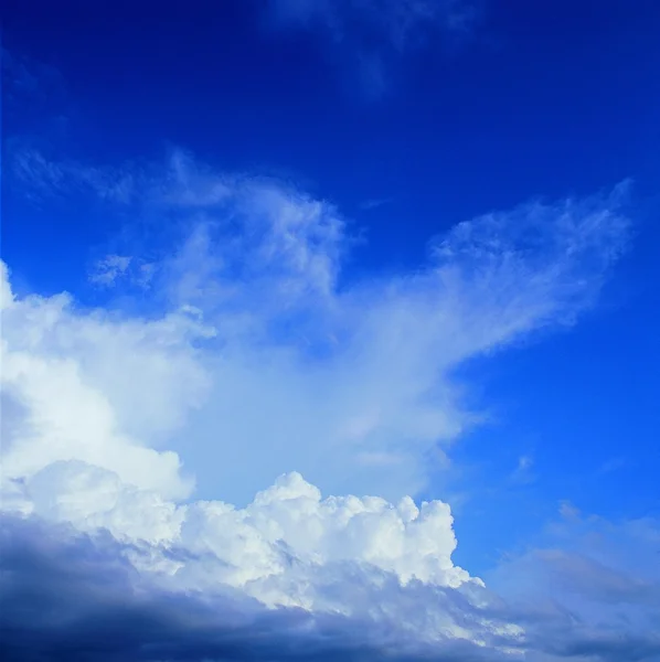
M483 0L468 35L393 57L377 97L322 35L274 28L256 1L8 4L3 47L46 67L46 92L4 99L6 150L119 166L178 145L302 182L364 228L349 277L414 266L476 214L632 178L638 236L598 308L465 369L500 421L458 450L482 494L459 506L457 560L478 572L502 526L523 536L561 500L658 513L659 2ZM83 290L81 265L113 228L52 204L4 178L3 259L40 291ZM520 455L535 479L510 485Z

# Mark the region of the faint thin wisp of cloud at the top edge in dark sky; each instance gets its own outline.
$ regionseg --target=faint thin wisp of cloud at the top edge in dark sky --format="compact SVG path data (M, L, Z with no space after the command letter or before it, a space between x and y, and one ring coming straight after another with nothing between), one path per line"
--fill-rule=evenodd
M438 36L465 38L479 15L469 0L269 0L266 7L274 26L326 38L332 60L350 63L374 97L388 88L406 52Z

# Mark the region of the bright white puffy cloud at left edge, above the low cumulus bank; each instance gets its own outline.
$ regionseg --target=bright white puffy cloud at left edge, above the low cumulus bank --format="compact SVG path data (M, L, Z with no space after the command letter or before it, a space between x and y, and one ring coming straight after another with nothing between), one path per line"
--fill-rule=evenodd
M188 339L211 330L185 312L118 321L66 295L15 299L6 277L2 292L2 396L23 413L3 438L3 476L77 459L184 495L177 456L150 445L200 403L206 375Z

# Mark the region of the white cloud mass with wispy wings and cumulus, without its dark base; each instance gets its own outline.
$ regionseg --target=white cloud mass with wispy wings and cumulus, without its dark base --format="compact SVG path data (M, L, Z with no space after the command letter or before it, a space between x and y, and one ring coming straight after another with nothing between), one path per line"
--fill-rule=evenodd
M150 266L159 313L14 297L2 266L3 509L106 527L171 590L520 645L454 565L449 506L406 494L475 420L453 371L593 302L626 244L624 191L472 220L416 273L362 282L324 201L180 154L140 191L132 217L181 238L123 252L127 278Z

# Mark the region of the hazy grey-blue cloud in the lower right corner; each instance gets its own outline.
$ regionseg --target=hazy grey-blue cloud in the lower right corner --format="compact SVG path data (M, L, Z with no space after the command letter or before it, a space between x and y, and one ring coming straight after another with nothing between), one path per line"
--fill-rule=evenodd
M584 517L566 504L562 515L488 574L488 586L550 655L659 660L660 523Z

